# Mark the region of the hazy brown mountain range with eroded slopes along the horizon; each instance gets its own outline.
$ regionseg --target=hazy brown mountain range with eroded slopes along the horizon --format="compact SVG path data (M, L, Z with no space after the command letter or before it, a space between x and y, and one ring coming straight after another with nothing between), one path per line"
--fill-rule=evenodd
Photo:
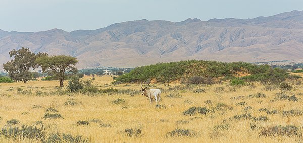
M76 57L79 68L136 67L188 59L299 62L303 61L303 11L253 19L142 19L72 32L0 30L1 66L11 60L9 51L21 47Z

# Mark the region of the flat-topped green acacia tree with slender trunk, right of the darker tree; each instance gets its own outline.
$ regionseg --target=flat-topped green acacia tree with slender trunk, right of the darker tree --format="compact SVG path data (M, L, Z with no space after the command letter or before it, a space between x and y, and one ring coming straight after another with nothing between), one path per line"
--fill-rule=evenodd
M71 56L41 56L36 59L36 63L41 66L44 73L47 72L49 75L58 79L60 81L60 87L63 87L63 82L67 74L77 73L75 65L78 63L78 60Z

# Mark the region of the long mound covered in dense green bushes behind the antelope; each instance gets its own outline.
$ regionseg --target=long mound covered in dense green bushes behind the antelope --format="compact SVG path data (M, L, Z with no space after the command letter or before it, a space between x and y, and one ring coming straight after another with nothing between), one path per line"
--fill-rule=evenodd
M245 85L246 82L252 81L262 84L279 84L287 78L300 77L290 76L286 70L272 68L269 65L187 60L136 67L131 72L115 78L114 83L153 79L161 83L182 81L189 84L214 84L222 80L231 80L231 85Z

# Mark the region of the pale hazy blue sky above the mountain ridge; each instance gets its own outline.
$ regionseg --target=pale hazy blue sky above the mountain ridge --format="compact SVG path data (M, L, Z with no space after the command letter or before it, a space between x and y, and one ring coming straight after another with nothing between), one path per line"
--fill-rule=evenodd
M0 29L70 32L141 19L248 19L292 10L303 10L303 0L0 0Z

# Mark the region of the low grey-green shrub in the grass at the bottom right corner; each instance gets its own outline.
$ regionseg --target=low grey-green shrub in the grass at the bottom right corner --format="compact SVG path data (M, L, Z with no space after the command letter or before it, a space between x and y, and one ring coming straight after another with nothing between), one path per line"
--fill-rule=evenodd
M301 137L302 132L298 127L293 125L277 125L273 127L265 127L260 131L260 136L275 137L275 136L297 136Z

